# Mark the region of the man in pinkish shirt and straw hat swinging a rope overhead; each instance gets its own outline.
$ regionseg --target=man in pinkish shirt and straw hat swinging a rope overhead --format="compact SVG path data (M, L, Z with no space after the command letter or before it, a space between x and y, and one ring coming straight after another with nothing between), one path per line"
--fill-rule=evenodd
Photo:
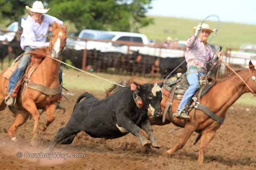
M185 106L194 96L199 87L199 78L207 73L207 62L211 61L213 54L212 48L207 43L209 35L213 32L208 24L201 24L194 27L195 34L190 36L186 42L185 59L187 62L186 78L189 82L189 88L186 90L177 113L174 114L177 118L190 120L189 115L184 111ZM218 57L221 57L221 52L218 52Z

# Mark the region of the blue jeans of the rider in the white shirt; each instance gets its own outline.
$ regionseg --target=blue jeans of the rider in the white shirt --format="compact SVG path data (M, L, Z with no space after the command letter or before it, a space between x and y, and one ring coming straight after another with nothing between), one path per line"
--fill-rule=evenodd
M20 59L20 63L18 64L16 70L13 72L11 78L10 78L10 82L9 82L9 89L7 91L7 94L12 94L13 89L15 88L17 82L19 81L19 79L23 76L23 74L26 71L27 66L29 65L29 63L31 62L31 57L32 54L26 54L26 52L32 51L33 49L29 46L27 46L25 48L25 55L23 55ZM62 68L60 68L60 73L59 73L59 82L61 84L62 82L62 73L63 70Z

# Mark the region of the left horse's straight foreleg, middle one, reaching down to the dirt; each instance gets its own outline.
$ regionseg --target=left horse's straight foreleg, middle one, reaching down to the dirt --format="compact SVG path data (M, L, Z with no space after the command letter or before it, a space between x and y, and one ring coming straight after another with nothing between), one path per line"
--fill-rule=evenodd
M23 107L32 114L34 119L33 137L31 139L32 146L38 145L38 123L39 123L39 112L36 108L35 102L32 99L26 99L23 102Z

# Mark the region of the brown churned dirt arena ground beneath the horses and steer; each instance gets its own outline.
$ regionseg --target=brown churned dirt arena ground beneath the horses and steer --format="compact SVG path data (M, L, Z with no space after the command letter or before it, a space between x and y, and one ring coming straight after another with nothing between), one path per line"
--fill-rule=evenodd
M198 164L199 145L192 145L197 133L194 133L182 150L172 157L166 156L167 149L173 147L181 130L170 133L174 125L153 126L161 149L141 147L138 139L131 134L119 139L94 139L84 132L79 133L70 145L57 145L55 151L61 153L85 153L83 159L18 159L17 152L39 153L45 150L59 127L63 127L70 118L73 105L84 91L73 91L68 95L70 102L62 100L66 113L57 111L55 121L43 132L40 131L40 146L32 147L33 120L22 125L16 133L18 142L11 142L6 133L14 117L8 108L0 112L0 169L1 170L255 170L256 169L256 107L233 105L227 112L224 124L209 144L205 163ZM104 94L92 92L102 99ZM44 113L40 122L46 122Z

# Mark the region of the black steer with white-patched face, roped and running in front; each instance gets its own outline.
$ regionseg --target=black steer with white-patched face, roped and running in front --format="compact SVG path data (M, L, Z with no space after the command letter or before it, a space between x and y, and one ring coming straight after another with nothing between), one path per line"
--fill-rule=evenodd
M71 144L81 130L93 138L106 139L119 138L130 132L143 146L151 144L160 148L147 113L160 116L163 83L134 84L137 86L135 91L131 91L130 87L120 88L103 100L96 99L90 93L79 96L69 122L59 129L48 150L52 151L58 143ZM84 97L86 99L80 102ZM148 133L150 142L141 134L141 128Z

